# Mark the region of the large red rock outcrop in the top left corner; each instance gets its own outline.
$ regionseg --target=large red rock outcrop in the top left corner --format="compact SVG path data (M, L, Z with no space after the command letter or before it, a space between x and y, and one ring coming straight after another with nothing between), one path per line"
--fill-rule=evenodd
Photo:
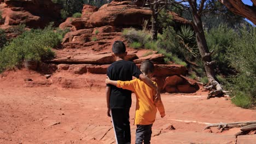
M30 28L42 28L51 21L57 22L61 17L60 8L50 0L5 0L0 4L4 25L24 23Z

